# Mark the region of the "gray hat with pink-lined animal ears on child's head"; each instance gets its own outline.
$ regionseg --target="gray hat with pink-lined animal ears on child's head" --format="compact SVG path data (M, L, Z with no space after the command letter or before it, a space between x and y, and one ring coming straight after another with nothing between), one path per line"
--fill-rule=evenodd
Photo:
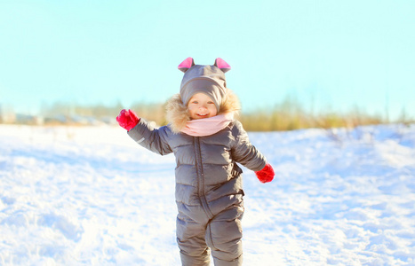
M216 59L213 66L195 65L192 58L185 59L178 67L185 74L180 85L180 97L185 106L196 93L209 96L219 112L222 100L227 95L225 73L230 70L223 59Z

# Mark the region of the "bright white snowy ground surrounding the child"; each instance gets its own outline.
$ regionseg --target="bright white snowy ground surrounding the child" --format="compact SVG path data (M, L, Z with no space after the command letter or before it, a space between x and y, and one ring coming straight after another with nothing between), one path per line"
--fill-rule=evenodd
M415 125L250 133L244 265L415 265ZM0 264L180 265L174 157L121 128L0 125Z

